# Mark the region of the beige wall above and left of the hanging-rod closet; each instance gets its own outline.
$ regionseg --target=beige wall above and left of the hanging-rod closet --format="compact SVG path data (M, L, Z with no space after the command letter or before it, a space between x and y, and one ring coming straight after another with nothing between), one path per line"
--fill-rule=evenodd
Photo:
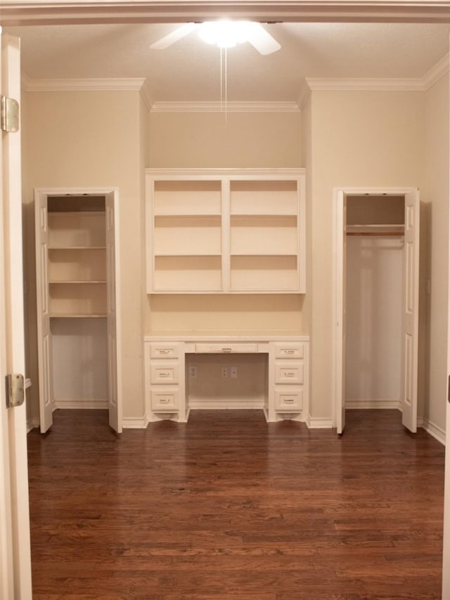
M423 93L311 93L311 416L333 414L333 188L423 188Z

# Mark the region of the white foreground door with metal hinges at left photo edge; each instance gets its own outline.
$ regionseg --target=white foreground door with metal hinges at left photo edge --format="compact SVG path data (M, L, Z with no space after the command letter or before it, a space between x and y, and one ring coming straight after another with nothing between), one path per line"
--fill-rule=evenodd
M1 28L0 28L1 32ZM1 35L1 96L20 104L20 42ZM26 405L6 408L6 374L25 373L20 133L0 145L0 597L32 597Z

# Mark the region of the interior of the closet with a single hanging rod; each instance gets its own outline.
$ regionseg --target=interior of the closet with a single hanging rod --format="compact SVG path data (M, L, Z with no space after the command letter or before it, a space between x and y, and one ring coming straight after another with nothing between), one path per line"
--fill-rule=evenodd
M346 408L401 410L404 205L347 197Z

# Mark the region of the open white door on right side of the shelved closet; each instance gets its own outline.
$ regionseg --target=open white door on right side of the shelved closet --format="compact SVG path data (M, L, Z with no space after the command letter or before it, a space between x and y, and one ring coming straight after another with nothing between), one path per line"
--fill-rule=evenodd
M118 210L117 192L105 197L106 211L106 285L107 285L107 318L108 318L108 409L109 424L117 433L122 433L122 389L120 360L117 348L120 344L120 290L116 282L119 280L119 235L115 227L115 214Z

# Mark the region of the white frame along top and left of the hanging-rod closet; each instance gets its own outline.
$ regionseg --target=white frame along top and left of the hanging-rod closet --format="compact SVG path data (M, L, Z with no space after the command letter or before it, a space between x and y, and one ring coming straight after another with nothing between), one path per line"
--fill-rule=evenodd
M343 301L343 248L344 248L344 228L338 229L338 199L343 195L347 196L363 196L363 195L405 195L410 193L418 193L418 188L413 187L372 187L372 186L345 186L333 188L333 267L332 267L332 285L333 285L333 426L336 427L339 422L340 413L345 410L345 398L342 397L342 370L345 368L345 357L342 352L342 301ZM345 424L345 423L344 423ZM343 429L343 427L342 427ZM338 431L338 433L342 433Z

